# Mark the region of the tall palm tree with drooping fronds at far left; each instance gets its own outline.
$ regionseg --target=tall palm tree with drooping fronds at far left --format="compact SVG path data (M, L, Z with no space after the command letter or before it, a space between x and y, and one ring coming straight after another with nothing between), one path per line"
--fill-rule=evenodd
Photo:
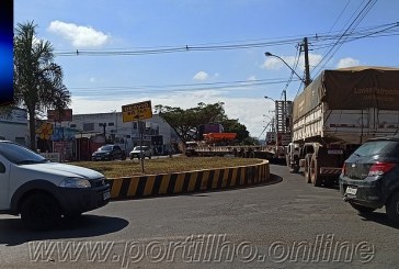
M54 63L53 46L36 38L36 24L19 23L14 35L14 101L27 110L31 148L36 149L35 120L47 109L62 110L70 93L62 69Z

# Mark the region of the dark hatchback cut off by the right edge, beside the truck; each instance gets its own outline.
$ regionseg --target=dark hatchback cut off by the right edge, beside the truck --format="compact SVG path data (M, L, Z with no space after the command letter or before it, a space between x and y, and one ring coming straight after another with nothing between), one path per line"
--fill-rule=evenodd
M358 212L385 205L388 217L399 223L399 136L373 138L358 147L342 168L340 191Z

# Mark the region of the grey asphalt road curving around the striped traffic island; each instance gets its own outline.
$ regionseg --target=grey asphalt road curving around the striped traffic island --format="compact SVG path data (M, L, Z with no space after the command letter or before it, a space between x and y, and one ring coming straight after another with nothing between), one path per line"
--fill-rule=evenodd
M284 166L269 186L111 202L52 232L0 215L1 268L397 268L399 229Z

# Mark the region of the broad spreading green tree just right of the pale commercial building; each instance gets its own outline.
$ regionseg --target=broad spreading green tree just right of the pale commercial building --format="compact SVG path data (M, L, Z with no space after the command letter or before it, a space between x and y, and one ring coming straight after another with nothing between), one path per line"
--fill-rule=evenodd
M162 117L179 138L185 143L196 138L197 126L209 122L220 122L226 119L223 102L214 104L198 103L196 108L183 110L168 105L156 105L160 117Z

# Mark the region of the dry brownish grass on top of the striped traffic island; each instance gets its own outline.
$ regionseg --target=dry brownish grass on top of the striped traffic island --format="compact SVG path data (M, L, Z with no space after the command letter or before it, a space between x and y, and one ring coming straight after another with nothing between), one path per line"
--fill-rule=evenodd
M113 161L79 161L76 166L87 167L103 173L106 178L119 178L142 175L160 175L201 169L249 166L260 164L261 159L235 158L235 157L185 157L173 156L172 158L145 159L144 172L141 162L134 160L113 160Z

